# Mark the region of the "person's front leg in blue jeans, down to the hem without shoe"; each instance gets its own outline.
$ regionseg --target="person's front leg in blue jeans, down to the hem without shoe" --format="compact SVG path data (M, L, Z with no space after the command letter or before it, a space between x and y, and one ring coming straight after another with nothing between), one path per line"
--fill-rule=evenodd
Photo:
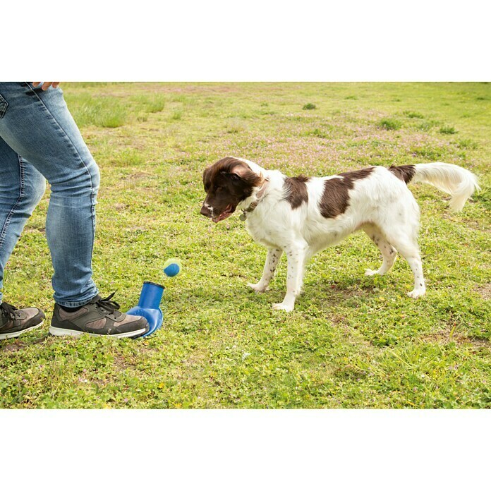
M59 305L73 308L97 296L92 280L99 169L66 107L61 89L0 83L8 107L0 137L51 185L46 236Z

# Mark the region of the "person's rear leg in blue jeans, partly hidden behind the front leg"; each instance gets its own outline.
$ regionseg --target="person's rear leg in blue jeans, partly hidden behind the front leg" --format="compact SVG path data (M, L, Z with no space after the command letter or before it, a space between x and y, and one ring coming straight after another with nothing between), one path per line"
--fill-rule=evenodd
M45 189L44 176L0 138L0 303L6 262Z

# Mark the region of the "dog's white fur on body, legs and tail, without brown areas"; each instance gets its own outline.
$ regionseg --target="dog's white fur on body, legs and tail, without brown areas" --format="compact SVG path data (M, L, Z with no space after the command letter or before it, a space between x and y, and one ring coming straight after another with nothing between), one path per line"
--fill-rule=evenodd
M375 167L370 176L354 181L346 211L326 219L319 208L325 180L342 179L342 176L310 178L306 183L308 202L292 210L284 199L284 174L262 169L246 159L239 160L267 179L266 188L255 188L250 198L238 205L247 209L257 200L257 195L261 196L255 210L248 214L245 228L257 243L267 247L267 259L261 279L249 286L257 292L266 291L282 253L286 253L288 258L286 296L281 303L273 304L274 309L293 310L310 257L329 245L339 243L358 229L368 234L383 257L379 269L367 269L365 274L387 273L399 251L413 271L414 288L408 296L418 298L424 295L425 280L417 241L419 207L406 183L391 171ZM435 162L414 167L416 174L411 182L430 183L451 194L449 207L453 211L461 210L466 200L479 189L475 175L454 164Z

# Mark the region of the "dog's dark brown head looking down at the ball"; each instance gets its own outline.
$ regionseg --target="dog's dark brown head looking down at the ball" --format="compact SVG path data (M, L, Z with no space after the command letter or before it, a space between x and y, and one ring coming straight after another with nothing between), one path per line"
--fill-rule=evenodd
M207 195L201 214L215 223L230 217L240 202L250 198L262 180L262 176L242 160L225 157L215 162L203 172Z

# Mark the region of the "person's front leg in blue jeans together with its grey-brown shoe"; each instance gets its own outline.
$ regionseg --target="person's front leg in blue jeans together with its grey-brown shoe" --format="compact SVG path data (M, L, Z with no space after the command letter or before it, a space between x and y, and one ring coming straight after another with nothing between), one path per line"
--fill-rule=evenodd
M54 267L56 304L49 332L57 336L87 332L113 337L147 332L144 317L119 312L112 295L101 298L92 280L99 169L61 89L42 91L25 82L0 83L0 137L51 185L46 236ZM4 305L0 311L5 311L1 314L4 327L0 325L0 337L2 331L13 337L12 329L17 328L9 327L9 323L21 315L20 311L12 305Z

